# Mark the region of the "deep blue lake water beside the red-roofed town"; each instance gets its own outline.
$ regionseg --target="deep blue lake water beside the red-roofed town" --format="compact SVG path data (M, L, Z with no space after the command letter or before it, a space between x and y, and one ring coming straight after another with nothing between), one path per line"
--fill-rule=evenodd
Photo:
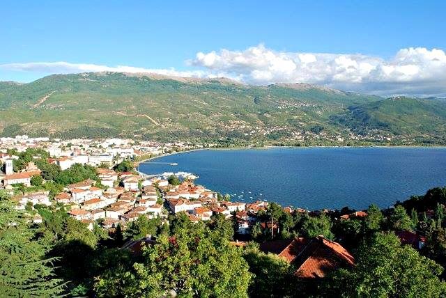
M185 171L233 201L264 199L309 210L389 207L446 185L446 148L199 150L140 164L147 174ZM251 198L252 197L252 198Z

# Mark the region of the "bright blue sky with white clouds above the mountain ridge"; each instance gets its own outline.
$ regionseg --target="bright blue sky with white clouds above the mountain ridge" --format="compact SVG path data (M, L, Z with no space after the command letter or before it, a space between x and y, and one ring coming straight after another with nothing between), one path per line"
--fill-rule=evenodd
M446 1L0 3L0 80L155 72L446 96Z

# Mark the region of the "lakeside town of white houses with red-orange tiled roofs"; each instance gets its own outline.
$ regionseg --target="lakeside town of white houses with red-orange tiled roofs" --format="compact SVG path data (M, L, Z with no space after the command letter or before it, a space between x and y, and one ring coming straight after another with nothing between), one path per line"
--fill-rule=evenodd
M17 203L17 209L24 210L34 224L40 224L43 220L36 209L52 205L56 208L65 207L69 217L81 221L89 230L93 230L93 226L100 226L109 234L114 233L118 226L120 229L125 229L128 224L140 217L157 218L162 224L169 225L169 214L185 214L192 223L210 221L213 216L220 216L235 223L236 237L233 245L245 246L247 242L244 240L255 237L274 240L275 235L281 233L281 227L274 221L274 217L266 219L267 201L251 203L231 201L229 194L222 195L201 185L195 185L193 179L195 176L191 173L185 173L188 175L183 175L180 179L176 175L146 175L136 170L138 162L145 159L200 148L203 146L183 142L157 143L130 139L62 141L28 136L1 138L0 162L4 172L0 174L1 188L12 196ZM26 155L27 152L32 155L31 158ZM45 156L42 152L46 152ZM45 158L46 160L43 160ZM36 164L43 166L39 168ZM54 191L54 187L45 188L45 185L52 183L47 180L49 173L46 172L50 171L45 168L46 164L53 165L58 171L88 166L93 173L84 180L75 178L79 181L58 185L55 188L57 191ZM366 211L348 209L343 213L337 210L310 212L299 207L287 206L282 208L282 212L290 216L306 214L310 217L335 214L339 221L367 217ZM432 217L433 211L430 211L430 214ZM263 237L259 237L259 234ZM422 249L424 246L424 237L413 231L401 230L398 235L403 243L417 249ZM134 249L142 243L151 242L150 238L150 235L147 235L141 240L131 240L124 246ZM313 246L312 252L321 258L323 251L323 262L314 257L310 261L311 266L305 265L306 267L299 269L302 276L323 277L326 267L337 267L339 262L353 264L353 256L344 247L323 235L314 237L314 240L291 237L286 245L282 243L282 246L279 246L279 250L277 243L266 242L261 245L261 249L279 256L284 254L285 259L292 262L295 257L289 251L291 247L303 247L303 244L311 241L316 241L325 247L321 250L319 245ZM312 253L309 253L309 259L312 258ZM322 269L323 267L325 269Z

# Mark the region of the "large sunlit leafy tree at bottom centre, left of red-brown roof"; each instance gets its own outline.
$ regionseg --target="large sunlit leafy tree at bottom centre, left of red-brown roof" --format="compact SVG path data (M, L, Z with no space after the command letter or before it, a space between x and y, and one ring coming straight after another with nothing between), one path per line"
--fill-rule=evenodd
M98 295L112 295L102 285L123 282L122 292L132 297L247 297L251 274L241 250L205 225L160 235L146 246L141 262L118 276L99 276ZM122 284L122 283L121 283ZM112 289L111 289L112 290Z

